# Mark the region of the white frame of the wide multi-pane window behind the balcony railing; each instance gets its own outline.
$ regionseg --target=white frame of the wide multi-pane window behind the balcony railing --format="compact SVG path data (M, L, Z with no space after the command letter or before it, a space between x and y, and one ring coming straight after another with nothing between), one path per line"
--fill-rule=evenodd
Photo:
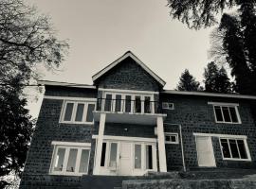
M152 103L154 100L154 94L137 94L137 93L133 93L133 91L131 91L131 93L122 93L122 92L104 92L102 93L103 99L106 99L106 95L107 94L111 94L112 98L111 100L113 100L113 103L111 103L111 107L110 107L110 112L116 112L116 95L121 95L121 104L120 104L120 112L125 112L125 96L126 95L130 95L131 96L131 112L125 112L125 113L138 113L138 114L152 114L155 113L155 103ZM134 112L133 110L135 109L135 100L136 100L136 96L140 97L141 100L141 112ZM150 97L150 106L151 106L151 112L144 112L144 102L145 102L145 97ZM104 112L104 106L105 106L105 100L101 101L101 111Z

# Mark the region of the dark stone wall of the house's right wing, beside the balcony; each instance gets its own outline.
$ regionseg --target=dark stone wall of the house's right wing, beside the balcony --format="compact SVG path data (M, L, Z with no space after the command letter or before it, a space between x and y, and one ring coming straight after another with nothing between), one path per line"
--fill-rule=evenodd
M161 101L174 103L173 111L164 111L167 113L167 118L164 122L166 124L181 124L185 163L188 168L198 168L195 136L193 136L193 132L247 135L247 144L252 159L251 162L222 160L218 138L211 137L216 165L217 167L223 168L256 168L256 129L250 112L250 102L248 100L174 94L162 94L160 99ZM242 124L215 123L213 107L208 104L210 101L239 103L238 111ZM165 125L166 130L174 130L176 128L176 126ZM181 160L180 147L176 146L174 149L173 146L166 146L169 170L174 169ZM180 165L182 166L182 164Z

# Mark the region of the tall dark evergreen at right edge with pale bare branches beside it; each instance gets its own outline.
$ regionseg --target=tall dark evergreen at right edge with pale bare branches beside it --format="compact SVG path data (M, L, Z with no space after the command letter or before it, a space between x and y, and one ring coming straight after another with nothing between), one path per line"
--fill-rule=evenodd
M210 54L215 60L225 58L229 63L231 76L236 81L236 92L256 94L256 17L246 24L242 14L222 16L219 27L211 35Z

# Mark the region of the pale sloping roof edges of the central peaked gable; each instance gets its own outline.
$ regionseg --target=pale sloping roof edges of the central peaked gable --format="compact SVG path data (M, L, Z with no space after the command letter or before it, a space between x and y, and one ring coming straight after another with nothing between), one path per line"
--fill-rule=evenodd
M107 73L108 71L110 71L112 68L114 68L116 65L118 65L122 60L125 60L126 58L132 58L133 60L135 60L137 62L137 64L139 66L141 66L143 68L143 70L145 70L151 77L154 77L155 80L161 85L164 86L165 85L165 81L158 77L148 66L146 66L141 60L137 59L137 56L135 56L131 51L127 51L126 53L124 53L123 56L121 56L118 60L115 60L114 62L110 63L109 65L107 65L105 68L103 68L100 72L98 72L97 74L95 74L92 79L93 81L97 80L98 78L102 77L105 73Z

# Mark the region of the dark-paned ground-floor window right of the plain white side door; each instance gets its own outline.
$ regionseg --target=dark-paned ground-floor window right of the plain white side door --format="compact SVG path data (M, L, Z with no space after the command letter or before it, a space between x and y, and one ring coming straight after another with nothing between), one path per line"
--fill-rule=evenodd
M249 160L245 139L220 138L220 146L224 160Z

